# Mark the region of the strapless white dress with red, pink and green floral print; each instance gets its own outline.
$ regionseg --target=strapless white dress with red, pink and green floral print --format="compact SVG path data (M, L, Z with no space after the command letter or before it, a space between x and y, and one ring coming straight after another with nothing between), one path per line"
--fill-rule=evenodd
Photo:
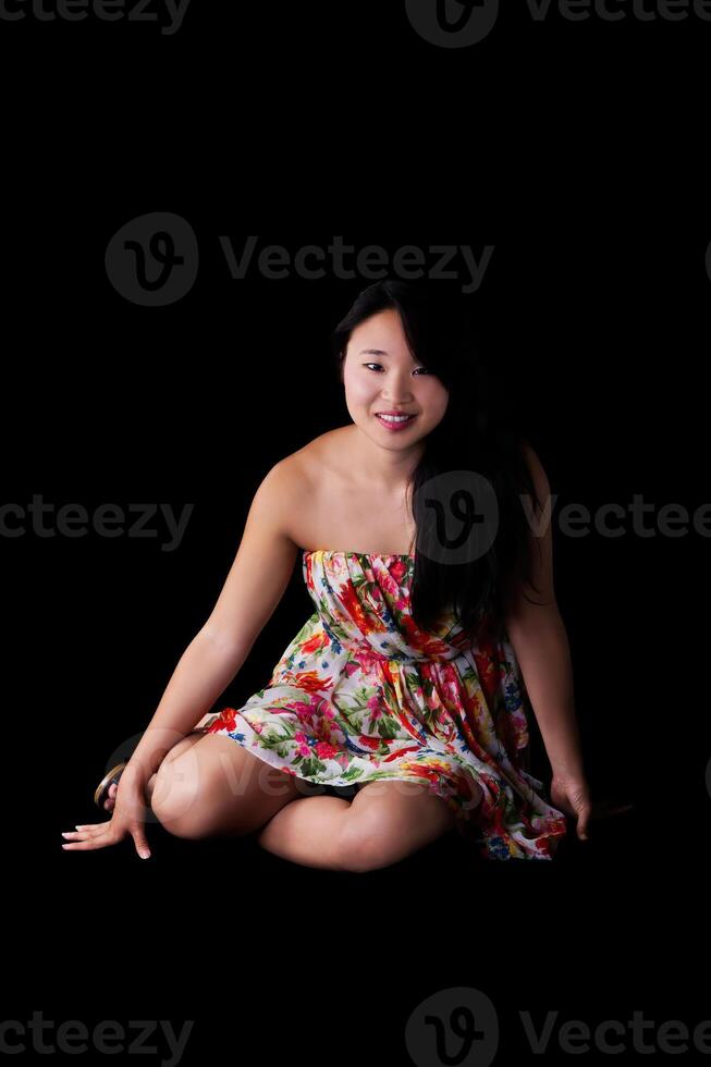
M566 820L528 773L530 702L505 630L474 641L450 613L419 629L412 555L319 549L302 566L316 611L267 687L195 728L327 788L422 782L483 859L552 859Z

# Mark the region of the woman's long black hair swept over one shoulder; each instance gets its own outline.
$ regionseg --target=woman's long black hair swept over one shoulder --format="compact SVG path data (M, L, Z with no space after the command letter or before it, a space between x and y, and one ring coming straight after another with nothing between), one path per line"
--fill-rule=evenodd
M335 371L342 381L343 361L352 330L385 308L400 312L415 358L437 375L449 391L448 407L425 441L425 452L410 477L413 516L417 528L410 611L420 628L436 629L442 612L454 611L467 630L482 624L501 636L508 593L531 581L529 516L522 503L539 515L525 441L505 383L486 366L461 293L441 280L409 282L384 279L368 285L331 334ZM491 485L498 503L495 536L478 559L451 563L428 550L441 531L418 490L446 471L476 471ZM534 505L535 502L535 505ZM520 587L523 588L523 587ZM524 592L527 600L530 598Z

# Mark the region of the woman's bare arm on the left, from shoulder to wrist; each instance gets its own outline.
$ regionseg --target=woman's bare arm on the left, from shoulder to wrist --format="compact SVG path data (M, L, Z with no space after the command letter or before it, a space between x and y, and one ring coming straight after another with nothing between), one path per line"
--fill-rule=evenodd
M291 579L299 550L290 530L305 500L299 461L287 456L257 489L217 603L179 660L122 781L147 783L242 667Z

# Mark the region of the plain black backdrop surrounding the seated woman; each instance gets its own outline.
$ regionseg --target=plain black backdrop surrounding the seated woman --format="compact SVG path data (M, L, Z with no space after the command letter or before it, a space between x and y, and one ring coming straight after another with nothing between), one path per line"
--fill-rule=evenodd
M115 538L44 537L27 516L3 536L3 1018L115 1019L128 1039L131 1020L191 1019L184 1062L212 1044L216 1062L429 1064L407 1022L467 986L494 1005L494 1062L531 1056L523 1011L591 1029L641 1011L652 1044L666 1020L692 1031L710 1016L708 539L690 516L708 492L711 23L522 7L442 49L401 4L194 0L173 36L27 17L0 39L5 504L40 495L50 531L68 504L192 505L174 551L159 515L150 538L128 518ZM105 254L155 211L189 223L199 270L151 308ZM634 799L633 817L552 863L482 864L448 841L367 874L161 827L147 862L128 841L61 849L211 611L266 471L348 421L328 336L368 279L233 280L224 234L292 254L336 234L493 246L467 299L556 513L653 505L655 536L554 534L593 796ZM659 532L670 503L685 536ZM266 684L310 611L297 565L220 703ZM547 1055L569 1060L556 1033Z

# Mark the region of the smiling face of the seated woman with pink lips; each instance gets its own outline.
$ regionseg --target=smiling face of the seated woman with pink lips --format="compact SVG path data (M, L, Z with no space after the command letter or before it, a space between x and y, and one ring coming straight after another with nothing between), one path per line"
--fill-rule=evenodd
M449 392L413 358L400 312L385 308L351 333L343 360L345 403L351 418L383 449L409 449L441 421ZM414 415L391 429L382 412Z

